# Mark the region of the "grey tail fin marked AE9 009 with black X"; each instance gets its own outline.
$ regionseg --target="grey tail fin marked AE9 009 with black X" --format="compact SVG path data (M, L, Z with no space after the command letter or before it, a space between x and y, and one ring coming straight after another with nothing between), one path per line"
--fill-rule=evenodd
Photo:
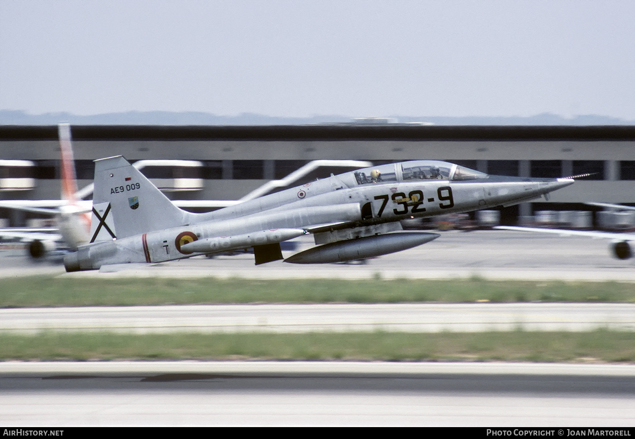
M90 242L186 225L190 215L121 155L95 161Z

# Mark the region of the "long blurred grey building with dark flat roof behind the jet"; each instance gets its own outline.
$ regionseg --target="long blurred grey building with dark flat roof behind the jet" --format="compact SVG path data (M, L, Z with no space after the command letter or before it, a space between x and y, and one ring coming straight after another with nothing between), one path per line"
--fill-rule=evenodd
M635 204L635 126L72 126L71 131L80 188L91 183L93 160L112 155L131 162L197 162L167 173L147 171L150 178L197 179L196 187L175 185L168 193L192 200L236 200L312 160L434 159L500 175L591 174L552 193L549 201L505 209L504 223L541 209L594 210L585 202ZM0 197L58 198L58 165L57 126L0 126ZM328 176L331 170L323 172ZM12 176L26 183L12 187ZM12 225L23 219L0 212L11 216Z

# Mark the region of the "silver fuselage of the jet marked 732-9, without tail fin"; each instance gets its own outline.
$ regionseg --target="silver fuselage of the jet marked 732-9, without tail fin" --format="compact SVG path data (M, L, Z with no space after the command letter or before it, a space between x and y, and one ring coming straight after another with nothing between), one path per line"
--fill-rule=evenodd
M418 164L427 164L426 173L409 171L406 176L405 170L415 169ZM429 164L446 166L443 168L446 171L431 176ZM384 223L511 206L573 183L570 179L488 176L457 169L446 162L403 162L377 168L382 172L368 168L362 170L365 172L331 175L211 213L187 214L182 226L83 247L74 263L81 270L90 270L107 264L170 261L204 253L187 251L187 244L193 240L214 242L215 247L208 252L225 251L257 245L263 239L266 242L289 239L293 235L290 230L329 225L369 230L364 236L377 235L386 230L382 228ZM460 180L459 170L474 175ZM370 178L371 173L375 177Z

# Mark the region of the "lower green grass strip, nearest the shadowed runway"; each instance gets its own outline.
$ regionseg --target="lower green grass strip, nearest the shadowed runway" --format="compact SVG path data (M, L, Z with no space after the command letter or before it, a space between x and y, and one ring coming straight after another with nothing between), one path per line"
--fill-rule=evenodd
M0 360L635 362L632 332L0 334Z

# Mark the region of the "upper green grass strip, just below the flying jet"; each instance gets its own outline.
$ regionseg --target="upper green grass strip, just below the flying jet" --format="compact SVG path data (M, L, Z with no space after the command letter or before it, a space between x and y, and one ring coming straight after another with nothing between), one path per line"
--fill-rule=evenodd
M3 279L0 306L132 306L211 303L439 302L635 303L635 285L618 282L395 279L74 278Z

